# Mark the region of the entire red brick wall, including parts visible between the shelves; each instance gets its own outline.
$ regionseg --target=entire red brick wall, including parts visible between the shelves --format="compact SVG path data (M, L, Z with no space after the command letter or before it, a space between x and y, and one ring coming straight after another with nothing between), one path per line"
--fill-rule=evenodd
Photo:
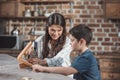
M61 11L63 14L69 14L70 6L69 4L51 4L39 6L43 10L47 9L48 11ZM118 32L120 32L120 20L107 20L104 18L103 13L103 3L101 0L74 0L73 2L73 11L75 17L73 18L73 25L77 24L86 24L93 30L93 41L89 46L94 52L120 52L120 37L118 37ZM67 30L69 30L70 23L67 22ZM19 29L22 33L23 21L15 20L10 21L10 26L18 24ZM34 21L25 21L26 28L25 34L27 34L32 28ZM37 29L44 30L44 25L41 21L38 21ZM42 27L41 27L42 26ZM10 32L11 29L8 31ZM28 38L28 36L27 36Z

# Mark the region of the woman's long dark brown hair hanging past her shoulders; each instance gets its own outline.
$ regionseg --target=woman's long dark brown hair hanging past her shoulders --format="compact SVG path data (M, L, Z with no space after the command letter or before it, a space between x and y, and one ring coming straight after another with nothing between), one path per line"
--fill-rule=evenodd
M48 28L52 25L60 25L61 27L63 27L63 33L57 40L55 46L52 46L53 47L52 51L50 51L48 47L48 42L49 40L51 40L51 37L49 35ZM44 40L43 40L43 50L42 50L43 59L48 57L48 54L52 54L52 57L55 56L63 48L65 41L66 41L65 19L61 14L54 13L50 15L46 21L46 33L45 33Z

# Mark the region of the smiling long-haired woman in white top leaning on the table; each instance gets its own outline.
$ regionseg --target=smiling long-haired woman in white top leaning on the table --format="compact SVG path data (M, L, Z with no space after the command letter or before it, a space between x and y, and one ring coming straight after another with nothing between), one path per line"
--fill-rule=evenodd
M61 14L54 13L47 18L45 35L38 37L35 42L38 58L31 58L29 62L45 66L70 65L70 40L66 34L65 19Z

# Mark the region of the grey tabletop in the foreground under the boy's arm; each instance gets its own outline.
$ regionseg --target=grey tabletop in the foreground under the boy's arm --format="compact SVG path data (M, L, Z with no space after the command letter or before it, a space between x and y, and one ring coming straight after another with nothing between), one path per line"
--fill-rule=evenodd
M33 72L31 69L21 69L15 57L0 54L0 80L22 80L21 78L23 77L32 78L31 80L74 80L60 74Z

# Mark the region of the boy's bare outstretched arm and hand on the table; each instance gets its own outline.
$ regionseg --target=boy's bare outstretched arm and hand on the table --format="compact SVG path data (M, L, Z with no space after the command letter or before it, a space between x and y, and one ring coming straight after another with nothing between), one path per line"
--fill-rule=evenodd
M78 72L73 67L44 67L40 65L33 65L32 68L33 71L57 73L62 75L70 75Z

